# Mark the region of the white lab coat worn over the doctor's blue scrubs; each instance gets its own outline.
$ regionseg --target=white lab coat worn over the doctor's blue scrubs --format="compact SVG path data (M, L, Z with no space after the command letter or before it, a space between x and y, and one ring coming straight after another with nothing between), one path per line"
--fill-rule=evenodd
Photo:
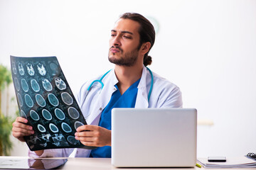
M100 79L97 77L96 79ZM151 74L143 68L142 78L139 81L137 99L135 108L181 108L182 97L181 91L175 84L170 81L159 77L159 75L153 72L154 84L151 91L151 97L148 101L148 93L151 86ZM94 81L94 80L92 80ZM103 88L100 83L93 84L90 91L87 93L87 88L90 86L92 81L87 81L82 85L80 93L76 100L85 117L88 125L98 125L100 121L100 115L103 109L109 103L110 98L114 91L117 89L114 87L118 80L112 69L102 79L104 84ZM46 149L41 157L68 157L73 149ZM36 157L34 152L29 152L31 157ZM78 149L75 157L89 157L90 149Z

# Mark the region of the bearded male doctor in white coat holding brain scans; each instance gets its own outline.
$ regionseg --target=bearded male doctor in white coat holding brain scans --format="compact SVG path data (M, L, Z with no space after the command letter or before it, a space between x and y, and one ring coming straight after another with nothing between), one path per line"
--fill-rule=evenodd
M75 157L111 157L112 108L179 108L181 91L175 84L152 73L149 50L154 45L152 24L139 13L124 13L111 30L109 60L114 69L87 81L77 96L88 125L82 125L75 139L97 149L77 149ZM34 133L28 120L18 117L12 134L18 140ZM87 130L87 131L85 131ZM29 151L30 157L68 157L73 149Z

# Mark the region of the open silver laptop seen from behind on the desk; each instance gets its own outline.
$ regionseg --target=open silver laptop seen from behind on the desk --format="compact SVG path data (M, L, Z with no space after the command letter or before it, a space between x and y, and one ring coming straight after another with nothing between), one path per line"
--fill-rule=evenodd
M196 166L195 108L113 108L112 165Z

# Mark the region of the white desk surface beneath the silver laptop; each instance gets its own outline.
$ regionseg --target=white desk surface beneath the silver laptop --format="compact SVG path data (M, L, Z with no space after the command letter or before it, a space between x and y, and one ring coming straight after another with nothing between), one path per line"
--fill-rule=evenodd
M4 157L3 157L4 158ZM8 158L28 158L28 157L8 157ZM1 159L1 157L0 157ZM71 170L112 170L112 169L122 169L122 168L115 168L111 164L110 158L68 158L68 162L66 162L63 166L58 167L58 169L71 169ZM125 170L129 168L124 168ZM203 169L198 168L195 166L194 168L131 168L133 170L164 170L164 169L172 169L172 170L182 170L182 169ZM246 168L246 170L251 170L256 168ZM209 170L217 170L217 169L209 169ZM220 170L220 169L218 169ZM231 169L225 169L225 170L231 170ZM236 170L236 169L232 169Z

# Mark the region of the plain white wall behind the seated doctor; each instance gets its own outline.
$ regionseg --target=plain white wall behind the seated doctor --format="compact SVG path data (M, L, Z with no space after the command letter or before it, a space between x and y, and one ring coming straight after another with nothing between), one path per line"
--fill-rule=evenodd
M57 56L76 93L112 68L110 30L127 11L159 22L150 68L181 88L183 107L213 120L198 126L198 157L256 152L254 0L0 0L0 62ZM13 155L26 155L21 145Z

